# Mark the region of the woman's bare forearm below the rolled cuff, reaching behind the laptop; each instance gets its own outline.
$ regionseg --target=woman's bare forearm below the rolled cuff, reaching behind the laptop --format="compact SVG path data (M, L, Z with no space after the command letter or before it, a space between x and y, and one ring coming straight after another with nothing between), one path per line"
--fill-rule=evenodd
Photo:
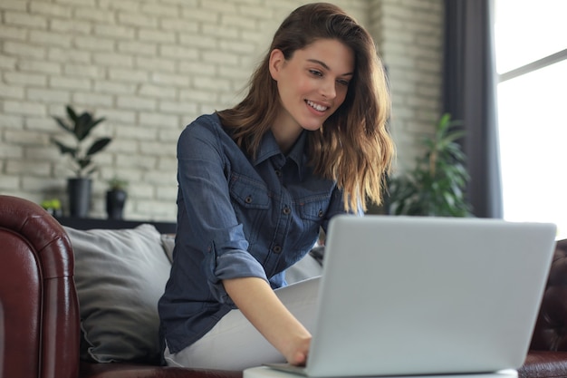
M245 277L226 279L223 284L238 309L289 363L304 365L307 362L311 334L267 282L262 278Z

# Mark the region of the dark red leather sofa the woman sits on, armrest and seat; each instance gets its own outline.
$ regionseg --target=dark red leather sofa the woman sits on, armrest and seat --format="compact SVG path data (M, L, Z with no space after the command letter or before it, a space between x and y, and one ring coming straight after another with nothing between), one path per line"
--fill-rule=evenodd
M520 377L567 377L567 240L557 243ZM242 372L80 361L73 252L43 208L0 195L0 377L240 378Z

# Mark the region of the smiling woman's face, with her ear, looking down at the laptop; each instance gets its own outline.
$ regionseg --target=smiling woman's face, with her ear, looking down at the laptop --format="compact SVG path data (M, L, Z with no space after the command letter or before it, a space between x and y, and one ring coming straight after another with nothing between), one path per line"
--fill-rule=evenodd
M354 53L333 39L317 40L287 61L276 49L270 55L270 73L282 105L274 129L297 137L303 129L318 130L341 106L354 73Z

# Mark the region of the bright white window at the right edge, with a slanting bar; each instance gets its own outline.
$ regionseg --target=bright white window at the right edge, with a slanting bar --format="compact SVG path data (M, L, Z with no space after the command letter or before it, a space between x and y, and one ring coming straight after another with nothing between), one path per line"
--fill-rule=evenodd
M567 237L567 1L495 0L504 218Z

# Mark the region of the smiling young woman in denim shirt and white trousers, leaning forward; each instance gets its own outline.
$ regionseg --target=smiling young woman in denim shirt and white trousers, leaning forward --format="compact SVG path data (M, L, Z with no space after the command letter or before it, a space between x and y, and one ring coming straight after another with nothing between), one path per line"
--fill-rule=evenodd
M380 203L389 106L370 34L319 3L283 21L242 102L187 126L159 301L168 364L305 363L319 280L286 286L285 269L334 215Z

